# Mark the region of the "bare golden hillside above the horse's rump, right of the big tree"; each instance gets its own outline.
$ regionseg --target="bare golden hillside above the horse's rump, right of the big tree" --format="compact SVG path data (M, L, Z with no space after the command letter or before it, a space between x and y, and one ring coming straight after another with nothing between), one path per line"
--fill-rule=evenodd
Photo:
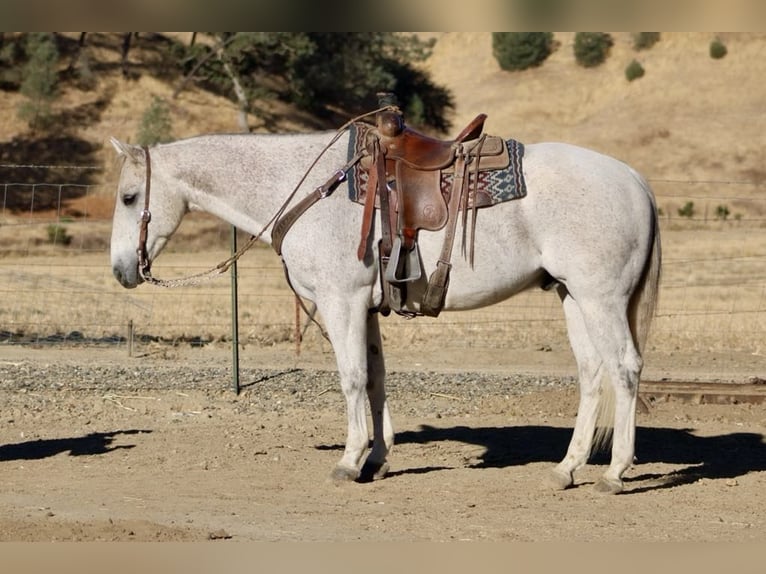
M614 33L607 62L577 66L573 33L540 68L499 70L490 34L442 34L429 63L455 94L456 124L489 114L487 129L533 142L560 140L615 155L648 177L693 180L766 179L765 34L720 34L728 55L708 54L710 33L663 33L636 52L628 33ZM624 69L638 59L646 75Z

